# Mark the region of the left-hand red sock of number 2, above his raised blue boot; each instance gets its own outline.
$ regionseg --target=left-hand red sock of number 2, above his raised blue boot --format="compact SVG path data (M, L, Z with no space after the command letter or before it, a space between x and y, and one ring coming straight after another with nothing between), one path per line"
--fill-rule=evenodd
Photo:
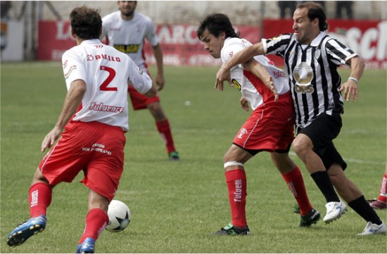
M46 215L47 207L51 203L51 196L52 189L50 185L44 182L37 182L31 185L30 192L28 193L31 218Z

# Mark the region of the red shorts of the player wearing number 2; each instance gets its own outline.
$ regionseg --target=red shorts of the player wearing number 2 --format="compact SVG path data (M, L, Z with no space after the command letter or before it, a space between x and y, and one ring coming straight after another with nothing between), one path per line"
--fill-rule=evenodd
M125 134L122 128L96 121L72 122L57 144L39 163L50 185L72 182L80 171L81 181L111 201L124 168Z

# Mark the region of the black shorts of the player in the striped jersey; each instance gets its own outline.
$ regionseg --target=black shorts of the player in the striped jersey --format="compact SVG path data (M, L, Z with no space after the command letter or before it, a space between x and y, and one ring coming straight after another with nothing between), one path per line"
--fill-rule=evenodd
M347 168L347 163L345 163L338 153L334 146L334 142L332 141L338 136L338 133L340 133L341 126L343 126L341 114L333 113L332 115L329 115L322 113L307 126L303 128L298 126L296 128L297 135L303 133L312 140L313 149L322 159L326 170L334 163L340 164L343 170Z

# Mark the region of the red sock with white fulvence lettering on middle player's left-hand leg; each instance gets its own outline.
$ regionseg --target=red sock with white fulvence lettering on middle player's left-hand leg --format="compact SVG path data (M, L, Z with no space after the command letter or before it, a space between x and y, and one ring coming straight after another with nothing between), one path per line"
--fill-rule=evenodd
M235 227L246 227L247 181L243 169L226 171L227 189L231 207L231 223Z

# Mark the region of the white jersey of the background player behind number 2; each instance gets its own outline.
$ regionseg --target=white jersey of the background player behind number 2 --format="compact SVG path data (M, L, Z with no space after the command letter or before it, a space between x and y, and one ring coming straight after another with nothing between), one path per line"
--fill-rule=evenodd
M159 43L155 26L148 16L134 12L132 20L123 20L121 11L115 11L102 18L101 39L108 38L108 44L126 53L132 60L146 70L144 39L152 46Z

